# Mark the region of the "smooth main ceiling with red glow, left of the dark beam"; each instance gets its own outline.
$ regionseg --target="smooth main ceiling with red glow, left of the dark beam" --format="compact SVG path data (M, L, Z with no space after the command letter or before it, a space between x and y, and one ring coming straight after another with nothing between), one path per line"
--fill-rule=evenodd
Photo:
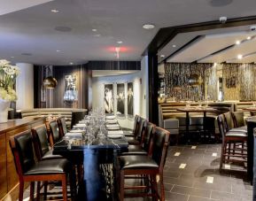
M223 15L228 19L255 15L255 0L218 6L223 2L229 1L1 0L0 58L50 65L116 60L114 47L122 41L120 60L140 60L161 27L212 21ZM156 27L145 30L145 23ZM59 32L55 27L71 30Z

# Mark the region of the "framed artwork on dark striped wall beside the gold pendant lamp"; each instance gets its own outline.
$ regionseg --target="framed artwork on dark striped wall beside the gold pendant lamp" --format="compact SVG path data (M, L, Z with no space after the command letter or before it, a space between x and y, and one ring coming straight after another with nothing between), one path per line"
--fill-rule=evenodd
M65 93L64 101L74 102L77 101L78 91L76 88L76 75L65 75Z

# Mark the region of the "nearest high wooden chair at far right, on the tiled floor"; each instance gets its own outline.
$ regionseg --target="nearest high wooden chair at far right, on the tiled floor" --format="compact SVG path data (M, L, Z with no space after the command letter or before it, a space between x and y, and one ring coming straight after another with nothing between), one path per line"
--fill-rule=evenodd
M224 126L225 117L223 114L217 117L217 121L220 133L222 135L220 169L222 168L223 163L226 162L246 162L247 153L244 153L246 152L246 149L244 149L244 146L242 146L242 149L237 148L236 143L246 143L247 134L232 130L228 131ZM238 160L237 158L241 158L241 160Z

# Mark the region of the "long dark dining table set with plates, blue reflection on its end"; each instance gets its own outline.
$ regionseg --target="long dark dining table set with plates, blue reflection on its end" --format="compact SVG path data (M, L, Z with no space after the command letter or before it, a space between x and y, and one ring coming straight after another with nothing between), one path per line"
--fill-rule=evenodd
M90 139L86 122L81 121L54 144L53 154L67 158L75 166L83 166L77 200L116 200L114 164L120 152L128 150L128 141L116 125L117 121L106 123L106 133Z

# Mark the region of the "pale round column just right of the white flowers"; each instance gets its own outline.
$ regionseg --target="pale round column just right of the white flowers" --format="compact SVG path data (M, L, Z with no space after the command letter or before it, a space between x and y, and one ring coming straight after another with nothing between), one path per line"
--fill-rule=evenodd
M34 108L34 69L33 65L18 63L20 73L16 80L18 100L17 110Z

